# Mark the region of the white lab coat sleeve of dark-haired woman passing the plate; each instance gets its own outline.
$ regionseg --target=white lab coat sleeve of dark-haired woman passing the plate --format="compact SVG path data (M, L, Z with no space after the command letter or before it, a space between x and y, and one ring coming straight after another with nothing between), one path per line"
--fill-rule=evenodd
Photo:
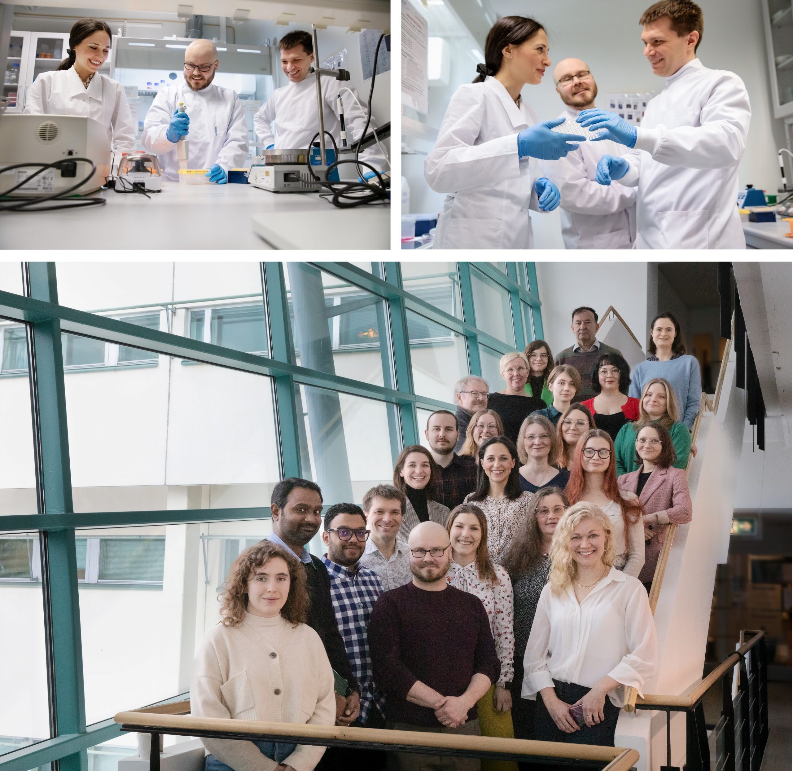
M529 159L518 157L517 133L474 144L487 106L483 86L473 85L454 92L435 147L424 160L424 177L436 193L456 193L529 173Z

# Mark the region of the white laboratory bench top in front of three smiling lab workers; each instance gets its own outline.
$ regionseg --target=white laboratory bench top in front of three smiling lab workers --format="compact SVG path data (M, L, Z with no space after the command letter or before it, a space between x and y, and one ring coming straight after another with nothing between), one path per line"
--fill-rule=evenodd
M339 209L316 193L163 182L102 190L103 206L0 213L4 249L388 249L389 205Z

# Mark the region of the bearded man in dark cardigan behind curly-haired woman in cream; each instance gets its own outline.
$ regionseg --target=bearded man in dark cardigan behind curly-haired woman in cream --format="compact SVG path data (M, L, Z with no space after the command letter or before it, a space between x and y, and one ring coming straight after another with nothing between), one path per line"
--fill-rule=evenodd
M324 562L308 553L305 545L316 535L322 522L322 491L308 479L290 477L278 482L270 497L273 531L268 541L293 551L303 563L311 595L308 626L312 627L325 646L331 666L347 681L347 694L336 692L336 723L349 725L361 711L358 681L352 672L344 640L336 626L331 600L331 580Z

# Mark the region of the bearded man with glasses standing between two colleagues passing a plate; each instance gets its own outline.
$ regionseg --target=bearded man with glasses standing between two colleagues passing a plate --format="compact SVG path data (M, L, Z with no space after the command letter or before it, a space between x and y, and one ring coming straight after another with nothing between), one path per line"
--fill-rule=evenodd
M597 83L581 59L562 59L554 68L556 90L565 103L559 117L575 121L592 109ZM595 181L603 155L626 155L616 142L581 142L564 158L543 161L542 168L561 194L561 237L567 249L630 249L636 236L636 190Z

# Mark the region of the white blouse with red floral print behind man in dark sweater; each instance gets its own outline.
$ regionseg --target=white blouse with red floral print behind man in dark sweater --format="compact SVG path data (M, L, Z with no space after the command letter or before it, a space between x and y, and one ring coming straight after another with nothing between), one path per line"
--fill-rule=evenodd
M515 635L512 632L512 582L506 570L494 565L496 583L490 584L479 577L477 563L469 562L465 567L451 561L446 583L479 597L487 611L493 642L496 643L496 654L501 662L499 684L511 683L515 670Z

